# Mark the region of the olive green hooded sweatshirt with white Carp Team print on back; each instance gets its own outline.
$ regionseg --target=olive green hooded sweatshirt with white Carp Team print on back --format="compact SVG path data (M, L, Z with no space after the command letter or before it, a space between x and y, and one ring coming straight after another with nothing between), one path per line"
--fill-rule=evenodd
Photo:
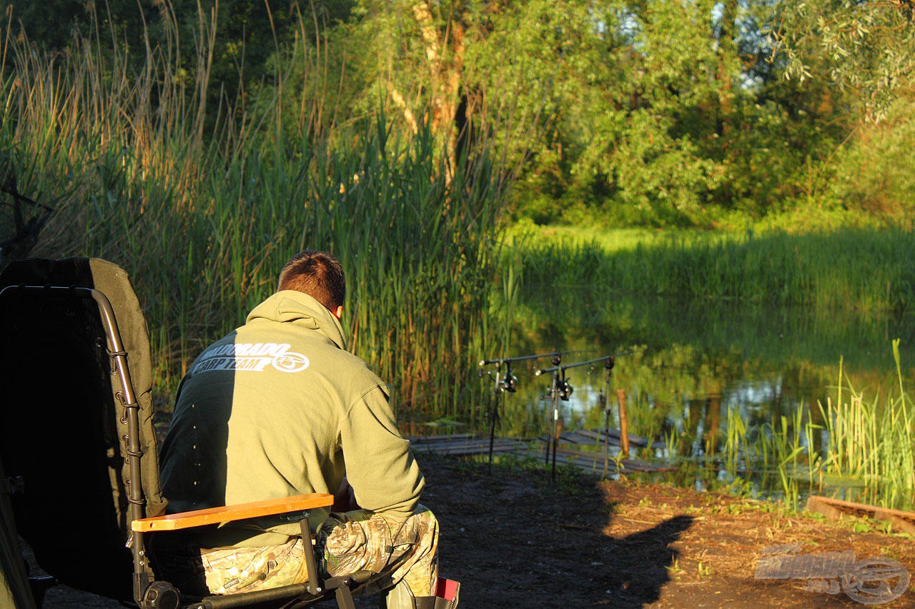
M181 381L162 447L163 493L174 513L333 494L346 475L361 508L404 519L425 484L409 445L382 380L346 350L339 320L285 290L207 347ZM198 537L210 547L272 545L297 529L260 520Z

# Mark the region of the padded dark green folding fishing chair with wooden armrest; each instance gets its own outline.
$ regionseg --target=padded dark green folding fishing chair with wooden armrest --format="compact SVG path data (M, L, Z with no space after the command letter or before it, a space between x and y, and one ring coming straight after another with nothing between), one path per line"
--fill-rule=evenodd
M149 338L122 269L98 259L14 262L0 275L0 337L0 492L11 491L19 534L57 582L142 609L302 606L331 595L354 606L352 579L322 580L312 552L306 583L270 590L195 598L156 580L150 532L283 515L310 544L308 510L333 497L163 515ZM33 580L38 604L41 585Z

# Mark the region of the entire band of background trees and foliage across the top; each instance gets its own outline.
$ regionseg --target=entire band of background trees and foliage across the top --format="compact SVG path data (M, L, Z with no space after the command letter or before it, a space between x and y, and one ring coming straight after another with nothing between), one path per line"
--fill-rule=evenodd
M383 107L398 117L393 128L436 134L451 174L462 157L495 147L517 175L514 213L537 221L711 225L813 205L891 217L892 201L915 194L901 177L880 205L839 186L875 134L908 133L899 117L915 93L910 0L7 6L50 48L92 20L115 48L165 44L170 21L193 62L209 32L211 106L241 112L276 93L295 107L302 91L319 91L320 112L290 129L358 122ZM59 18L43 18L48 10Z

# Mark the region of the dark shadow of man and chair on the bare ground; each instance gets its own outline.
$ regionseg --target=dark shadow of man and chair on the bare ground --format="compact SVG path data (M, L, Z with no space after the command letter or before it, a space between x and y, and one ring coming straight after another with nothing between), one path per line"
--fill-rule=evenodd
M441 572L468 607L640 607L670 581L670 548L693 518L675 516L622 539L592 476L461 464L420 455L424 501L442 529ZM449 480L449 486L440 481ZM435 484L438 482L438 484Z

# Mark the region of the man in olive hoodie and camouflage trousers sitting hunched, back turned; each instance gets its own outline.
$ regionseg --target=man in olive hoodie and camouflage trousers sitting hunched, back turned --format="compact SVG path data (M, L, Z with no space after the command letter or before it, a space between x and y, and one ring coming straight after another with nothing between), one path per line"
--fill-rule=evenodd
M389 607L434 607L438 525L384 383L346 350L345 294L339 262L303 251L244 326L204 349L178 390L163 492L171 512L334 494L332 513L309 516L324 572L370 574L361 593L396 584ZM189 593L305 582L298 529L263 518L169 534L156 567Z

